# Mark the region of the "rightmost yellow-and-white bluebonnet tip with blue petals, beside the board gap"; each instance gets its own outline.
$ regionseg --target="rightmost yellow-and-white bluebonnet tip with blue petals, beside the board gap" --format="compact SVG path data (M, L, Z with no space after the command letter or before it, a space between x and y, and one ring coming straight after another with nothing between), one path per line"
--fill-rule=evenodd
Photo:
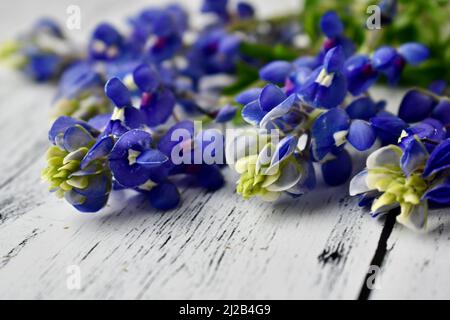
M419 139L404 149L388 145L367 158L367 168L350 183L350 195L374 199L372 215L399 207L397 221L415 230L427 227L428 208L432 204L450 204L448 171L450 141L444 140L429 154Z

